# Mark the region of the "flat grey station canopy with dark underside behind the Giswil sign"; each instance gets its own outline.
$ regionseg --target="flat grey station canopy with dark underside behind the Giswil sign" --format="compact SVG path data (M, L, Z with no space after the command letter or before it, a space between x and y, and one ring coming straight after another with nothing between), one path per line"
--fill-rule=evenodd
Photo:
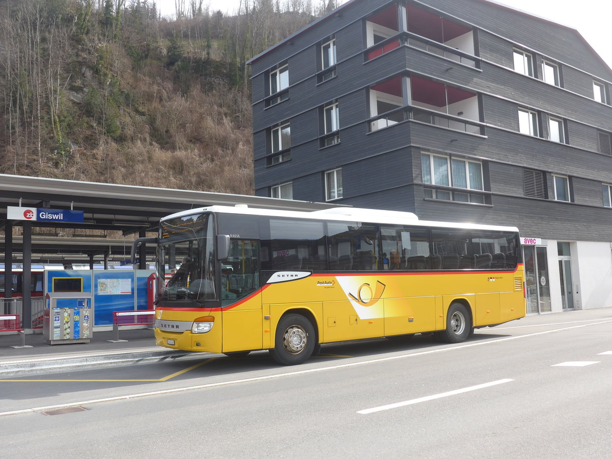
M129 258L134 235L144 236L148 231L157 231L160 218L198 207L235 204L290 211L316 211L338 207L338 204L281 200L263 196L0 174L2 230L23 225L23 220L7 220L7 207L83 211L83 223L31 222L32 263L66 264L80 261L91 264L93 257L99 255L105 256L105 261ZM53 228L54 231L40 230L40 228ZM66 237L67 233L64 232L67 228L73 228L70 237ZM106 237L106 231L121 231L121 236ZM13 263L18 262L23 253L21 236L12 236L9 251L13 254ZM5 263L5 254L6 238L2 235L0 264Z

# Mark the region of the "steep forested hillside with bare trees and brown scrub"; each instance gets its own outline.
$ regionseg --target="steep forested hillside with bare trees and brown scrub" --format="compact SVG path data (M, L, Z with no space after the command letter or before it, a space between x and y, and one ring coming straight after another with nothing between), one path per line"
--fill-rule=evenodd
M252 194L245 62L333 7L0 0L0 173Z

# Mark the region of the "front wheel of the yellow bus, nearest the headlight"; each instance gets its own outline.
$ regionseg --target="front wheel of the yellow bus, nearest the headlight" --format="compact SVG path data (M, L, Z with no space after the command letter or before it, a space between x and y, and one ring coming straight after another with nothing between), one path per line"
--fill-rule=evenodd
M272 359L282 365L305 362L315 350L315 327L302 315L289 314L278 323Z

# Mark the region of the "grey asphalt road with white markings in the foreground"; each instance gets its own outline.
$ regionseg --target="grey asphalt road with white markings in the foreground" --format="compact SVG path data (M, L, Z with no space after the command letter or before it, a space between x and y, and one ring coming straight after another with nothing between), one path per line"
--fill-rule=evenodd
M0 455L612 457L612 309L323 352L0 381Z

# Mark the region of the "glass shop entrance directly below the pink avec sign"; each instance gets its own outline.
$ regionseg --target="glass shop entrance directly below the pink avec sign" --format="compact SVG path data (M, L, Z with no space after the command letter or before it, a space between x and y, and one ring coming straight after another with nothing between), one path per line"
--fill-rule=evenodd
M524 245L523 259L527 284L527 313L551 312L546 247Z

